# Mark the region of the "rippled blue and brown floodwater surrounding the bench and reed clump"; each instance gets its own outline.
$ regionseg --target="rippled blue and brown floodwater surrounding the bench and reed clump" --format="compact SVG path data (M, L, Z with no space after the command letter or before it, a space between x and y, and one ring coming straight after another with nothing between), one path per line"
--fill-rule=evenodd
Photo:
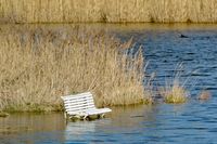
M63 114L0 118L0 143L217 143L217 25L105 25L123 41L143 48L154 86L177 70L191 91L186 104L113 107L105 119L66 123ZM181 64L182 68L176 68ZM201 90L213 97L197 101Z

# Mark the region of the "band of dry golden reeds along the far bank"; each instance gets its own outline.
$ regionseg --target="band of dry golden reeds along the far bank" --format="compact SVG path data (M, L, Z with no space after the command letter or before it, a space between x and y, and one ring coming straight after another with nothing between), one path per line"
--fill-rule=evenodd
M216 23L217 0L0 0L0 21L14 23Z

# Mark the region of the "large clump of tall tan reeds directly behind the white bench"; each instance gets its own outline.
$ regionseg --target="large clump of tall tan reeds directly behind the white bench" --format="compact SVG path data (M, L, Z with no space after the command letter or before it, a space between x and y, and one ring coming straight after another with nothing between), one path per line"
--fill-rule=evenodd
M100 107L150 101L143 57L105 31L5 26L0 32L0 109L59 110L61 95L91 91Z

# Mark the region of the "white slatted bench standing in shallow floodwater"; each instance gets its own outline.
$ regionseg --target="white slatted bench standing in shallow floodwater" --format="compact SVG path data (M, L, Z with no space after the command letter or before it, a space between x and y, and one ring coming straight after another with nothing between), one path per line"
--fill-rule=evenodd
M98 115L104 116L105 113L112 112L110 108L97 108L90 92L79 93L75 95L61 96L64 102L66 116L69 118L82 118L88 116Z

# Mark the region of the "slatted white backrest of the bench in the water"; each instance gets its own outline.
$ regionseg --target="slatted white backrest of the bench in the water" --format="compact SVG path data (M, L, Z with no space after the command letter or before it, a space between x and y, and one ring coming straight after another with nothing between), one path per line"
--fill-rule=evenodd
M85 109L95 108L94 101L90 92L61 97L64 101L66 113L81 113Z

